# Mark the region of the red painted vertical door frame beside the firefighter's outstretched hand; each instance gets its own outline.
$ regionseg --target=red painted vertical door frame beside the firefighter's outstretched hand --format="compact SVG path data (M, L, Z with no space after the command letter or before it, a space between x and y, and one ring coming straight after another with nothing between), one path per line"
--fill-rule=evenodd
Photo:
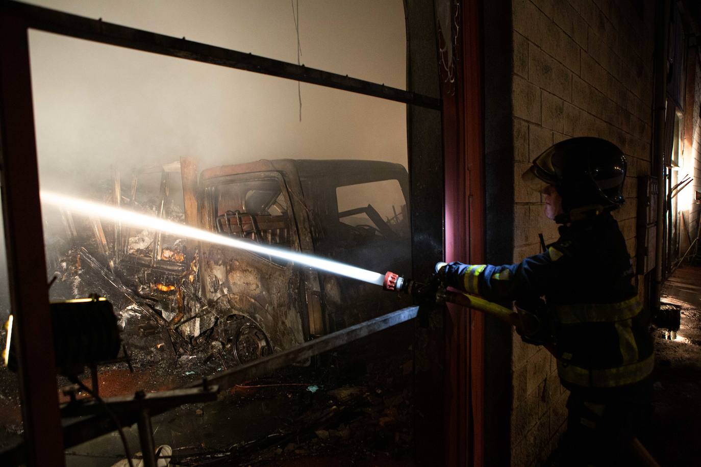
M442 80L446 260L484 263L484 143L479 0L458 13L454 81ZM447 463L484 464L484 316L449 306L446 326Z

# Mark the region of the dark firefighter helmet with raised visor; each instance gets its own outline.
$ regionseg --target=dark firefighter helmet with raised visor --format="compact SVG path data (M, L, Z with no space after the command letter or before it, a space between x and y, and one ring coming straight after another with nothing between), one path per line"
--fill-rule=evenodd
M566 212L594 204L615 209L625 201L625 171L625 155L618 146L601 138L579 137L547 148L522 179L540 192L554 186Z

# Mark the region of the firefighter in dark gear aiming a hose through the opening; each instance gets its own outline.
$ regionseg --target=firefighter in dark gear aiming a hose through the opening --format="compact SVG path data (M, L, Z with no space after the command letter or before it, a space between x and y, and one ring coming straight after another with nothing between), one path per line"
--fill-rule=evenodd
M571 391L565 466L630 465L631 449L641 449L634 428L650 414L652 337L611 216L624 202L625 172L622 151L604 139L554 144L522 179L545 196L545 216L560 224L557 242L513 265L437 265L449 286L516 300L522 338L557 358Z

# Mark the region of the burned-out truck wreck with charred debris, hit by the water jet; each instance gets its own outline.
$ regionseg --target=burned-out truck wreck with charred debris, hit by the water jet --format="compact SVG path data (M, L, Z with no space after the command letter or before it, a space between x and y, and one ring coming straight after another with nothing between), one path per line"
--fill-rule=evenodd
M158 188L152 183L149 189L145 181L154 177ZM260 160L198 176L193 160L183 158L137 171L127 193L123 188L115 174L114 192L105 200L367 270L410 270L409 183L402 165ZM165 329L175 354L216 344L245 363L406 305L378 286L244 249L79 219L68 211L62 219L73 255L54 263L63 281L73 281L72 293L83 291L69 271L99 272L109 284L100 293L119 302L118 295L123 314L146 314Z

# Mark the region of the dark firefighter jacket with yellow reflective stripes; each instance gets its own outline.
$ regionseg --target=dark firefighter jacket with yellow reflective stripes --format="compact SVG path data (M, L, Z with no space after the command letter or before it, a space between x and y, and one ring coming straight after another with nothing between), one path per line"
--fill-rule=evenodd
M559 232L547 251L521 263L450 263L448 284L492 301L543 298L558 374L568 389L643 381L653 370L653 343L618 223L606 212Z

